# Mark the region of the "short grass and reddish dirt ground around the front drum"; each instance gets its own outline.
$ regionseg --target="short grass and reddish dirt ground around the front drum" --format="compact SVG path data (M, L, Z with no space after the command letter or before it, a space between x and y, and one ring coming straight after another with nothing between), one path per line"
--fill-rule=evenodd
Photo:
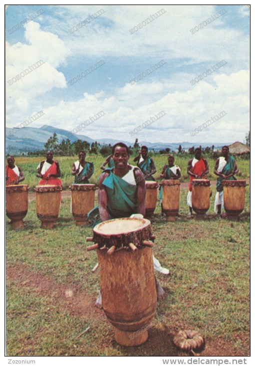
M40 160L33 159L30 166ZM73 159L58 160L67 171ZM244 171L246 161L243 166ZM153 224L154 255L170 270L169 276L157 274L167 292L157 302L157 315L165 320L149 330L146 343L129 348L115 342L113 327L94 306L99 274L91 269L97 259L85 250L91 229L75 227L66 198L55 228L43 230L30 202L26 229L6 229L8 355L187 355L172 343L183 328L205 336L201 355L248 355L249 187L239 222L212 219L215 187L212 191L208 220L183 216ZM187 213L186 194L181 189L181 214Z

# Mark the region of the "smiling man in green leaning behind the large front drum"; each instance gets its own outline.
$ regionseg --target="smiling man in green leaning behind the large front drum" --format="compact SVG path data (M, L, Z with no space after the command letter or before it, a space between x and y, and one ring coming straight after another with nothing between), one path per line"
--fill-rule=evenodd
M128 164L128 147L119 142L112 147L113 168L106 168L99 177L98 202L99 207L88 214L92 218L98 214L101 221L122 217L135 217L134 214L145 215L145 180L141 170ZM140 216L140 215L139 215ZM97 221L98 223L98 221ZM153 257L154 268L168 274L158 260ZM166 293L156 280L157 297L162 299ZM96 306L101 308L101 295L96 300Z

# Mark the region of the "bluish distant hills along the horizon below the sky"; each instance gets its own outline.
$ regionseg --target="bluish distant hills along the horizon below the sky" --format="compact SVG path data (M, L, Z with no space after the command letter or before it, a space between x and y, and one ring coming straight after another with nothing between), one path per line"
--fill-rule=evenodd
M16 133L14 131L16 130ZM9 135L8 132L11 131L13 134ZM40 128L34 127L23 127L23 128L6 128L6 154L21 154L22 152L27 153L28 151L37 151L41 150L44 147L44 143L48 140L53 133L57 134L58 142L62 140L66 140L69 138L70 142L74 142L76 140L87 141L88 143L92 143L95 139L92 139L85 135L71 135L69 131L55 128L52 126L43 125ZM114 145L116 142L123 142L127 146L133 146L134 141L128 142L125 140L115 140L113 138L101 138L97 139L101 145L103 144L111 144ZM182 149L187 150L189 147L192 146L199 146L202 147L211 146L211 143L190 143L190 142L147 142L147 141L138 141L140 145L146 145L149 149L165 149L169 147L171 150L177 150L179 144L181 145ZM229 145L229 143L220 143L214 146L214 148L219 148L222 145Z

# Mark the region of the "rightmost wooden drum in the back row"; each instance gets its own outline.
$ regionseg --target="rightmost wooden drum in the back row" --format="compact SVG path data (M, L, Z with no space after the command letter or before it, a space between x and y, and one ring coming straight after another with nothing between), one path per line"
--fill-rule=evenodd
M222 180L224 209L237 217L244 209L246 180Z

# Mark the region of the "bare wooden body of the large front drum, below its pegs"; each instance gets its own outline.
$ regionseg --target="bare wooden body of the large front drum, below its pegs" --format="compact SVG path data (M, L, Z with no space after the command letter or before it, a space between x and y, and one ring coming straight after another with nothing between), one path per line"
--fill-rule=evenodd
M99 266L103 268L100 271L103 310L111 324L120 330L115 333L116 341L123 345L143 343L147 339L147 331L141 334L141 338L135 338L135 343L123 332L132 334L155 316L152 249L145 247L135 252L121 249L112 256L108 256L106 250L96 252ZM138 279L141 279L140 283L133 287Z

